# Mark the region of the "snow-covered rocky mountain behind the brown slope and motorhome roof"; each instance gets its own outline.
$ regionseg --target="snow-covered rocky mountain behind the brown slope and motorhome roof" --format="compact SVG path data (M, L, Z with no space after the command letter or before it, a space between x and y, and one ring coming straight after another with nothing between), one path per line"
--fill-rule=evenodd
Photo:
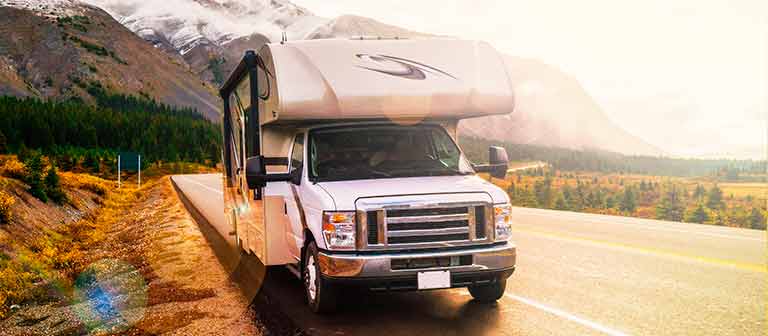
M86 0L160 50L220 85L245 50L301 39L329 20L283 0ZM224 47L226 46L226 47Z

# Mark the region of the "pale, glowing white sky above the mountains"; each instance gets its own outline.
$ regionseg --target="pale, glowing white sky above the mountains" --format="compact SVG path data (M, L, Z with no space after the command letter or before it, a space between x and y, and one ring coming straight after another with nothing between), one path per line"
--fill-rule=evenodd
M767 155L765 0L292 2L557 66L619 126L673 156Z

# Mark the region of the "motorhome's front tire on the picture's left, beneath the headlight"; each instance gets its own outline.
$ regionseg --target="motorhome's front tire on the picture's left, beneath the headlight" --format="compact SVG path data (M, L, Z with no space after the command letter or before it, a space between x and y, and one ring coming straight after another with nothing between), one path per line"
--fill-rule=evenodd
M314 271L314 288L310 286L313 282L311 272ZM304 263L301 272L304 282L304 293L306 294L307 304L315 313L330 313L336 310L336 288L325 281L320 276L320 265L317 263L317 245L310 242L304 251Z

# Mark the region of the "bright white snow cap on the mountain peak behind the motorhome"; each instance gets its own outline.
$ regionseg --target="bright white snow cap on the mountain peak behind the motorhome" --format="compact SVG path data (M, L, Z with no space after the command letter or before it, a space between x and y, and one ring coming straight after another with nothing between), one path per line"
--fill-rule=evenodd
M201 44L225 45L254 33L303 39L329 20L284 0L83 0L109 12L137 35L167 42L185 55Z

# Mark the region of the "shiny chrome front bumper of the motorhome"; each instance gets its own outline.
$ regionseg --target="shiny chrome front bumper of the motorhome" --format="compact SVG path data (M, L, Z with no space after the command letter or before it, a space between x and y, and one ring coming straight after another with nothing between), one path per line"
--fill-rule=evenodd
M471 263L460 266L393 269L393 259L418 259L471 256ZM451 271L451 287L466 287L506 279L516 262L516 246L506 243L452 249L391 253L334 253L318 255L321 276L335 283L359 284L380 290L416 289L419 272Z

